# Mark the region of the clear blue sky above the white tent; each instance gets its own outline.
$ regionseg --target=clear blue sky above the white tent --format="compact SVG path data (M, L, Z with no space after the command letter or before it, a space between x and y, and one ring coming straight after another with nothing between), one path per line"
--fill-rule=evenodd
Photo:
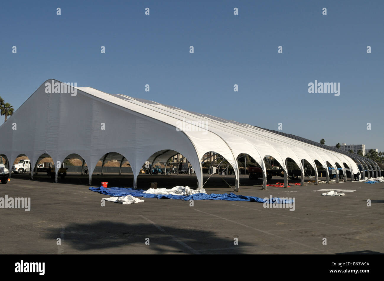
M2 2L0 95L17 109L53 78L384 151L383 12L381 0ZM309 94L315 80L340 96Z

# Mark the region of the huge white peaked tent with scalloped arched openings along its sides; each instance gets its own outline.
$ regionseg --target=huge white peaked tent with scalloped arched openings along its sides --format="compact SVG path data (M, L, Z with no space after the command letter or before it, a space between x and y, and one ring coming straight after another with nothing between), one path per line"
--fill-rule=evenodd
M47 87L50 88L48 93ZM69 88L71 91L65 90L65 86L63 90L60 81L47 80L0 127L0 153L9 159L9 163L20 155L36 164L49 156L59 165L68 158L84 159L91 184L92 171L100 159L103 163L110 159L121 163L129 161L135 188L137 175L145 161L166 162L177 153L185 156L194 167L198 187L202 187L201 161L210 151L222 155L233 167L237 191L237 157L244 153L262 168L264 187L266 156L272 156L280 163L285 171L285 184L287 158L300 168L302 184L304 160L313 167L316 181L316 160L324 168L329 166L327 162L334 168L337 163L344 175L348 167L353 176L359 171L360 164L372 175L381 176L379 167L370 159L297 136L149 100L107 94L90 87ZM326 173L328 179L327 168Z

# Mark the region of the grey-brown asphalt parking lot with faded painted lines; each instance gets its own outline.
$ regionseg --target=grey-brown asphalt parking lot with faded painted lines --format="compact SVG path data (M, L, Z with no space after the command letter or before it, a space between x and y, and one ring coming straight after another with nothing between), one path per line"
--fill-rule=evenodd
M28 178L12 174L10 182L0 185L0 197L31 198L28 212L0 209L2 254L384 253L384 183L306 183L261 190L261 181L242 176L237 194L294 197L295 211L290 211L255 202L195 200L191 207L189 201L152 198L102 207L101 199L108 196L90 191L87 176L68 175L57 184L46 175ZM214 175L204 188L208 193L232 192L223 179L233 186L233 176ZM94 186L101 181L109 187L131 187L132 175L93 175ZM149 187L152 181L167 188L197 183L189 175L139 175L138 187ZM318 189L356 191L322 196Z

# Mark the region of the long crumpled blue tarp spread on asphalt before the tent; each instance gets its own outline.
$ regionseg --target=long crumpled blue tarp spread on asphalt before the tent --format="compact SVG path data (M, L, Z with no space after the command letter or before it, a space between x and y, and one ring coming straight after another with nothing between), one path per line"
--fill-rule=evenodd
M145 198L168 198L168 199L180 199L180 200L230 200L230 201L251 201L251 202L277 202L280 203L293 203L293 200L286 200L286 199L280 199L277 197L274 197L272 199L264 200L259 197L252 197L252 196L245 196L245 195L236 195L232 192L230 194L224 193L224 194L205 194L205 193L197 193L192 194L189 196L182 196L182 195L171 195L171 194L148 194L144 193L144 190L142 189L132 189L132 188L122 188L122 187L89 187L89 190L99 192L101 194L106 194L109 196L127 196L132 195L134 197L145 197Z

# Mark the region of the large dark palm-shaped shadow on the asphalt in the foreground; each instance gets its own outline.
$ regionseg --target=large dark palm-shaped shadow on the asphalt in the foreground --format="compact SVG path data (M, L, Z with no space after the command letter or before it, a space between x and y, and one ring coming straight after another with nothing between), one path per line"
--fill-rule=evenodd
M65 228L48 228L47 231L47 239L56 240L61 237L63 247L65 243L69 243L79 251L106 250L142 243L157 254L196 253L195 251L199 249L212 249L212 253L217 252L214 249L219 249L221 253L242 254L244 246L255 246L247 242L241 242L241 246L234 245L234 237L220 238L217 237L217 233L207 230L155 226L151 223L129 224L110 221L91 224L72 223L65 225ZM149 238L149 245L145 244L146 238ZM138 250L142 251L139 248ZM210 253L210 250L201 252Z

